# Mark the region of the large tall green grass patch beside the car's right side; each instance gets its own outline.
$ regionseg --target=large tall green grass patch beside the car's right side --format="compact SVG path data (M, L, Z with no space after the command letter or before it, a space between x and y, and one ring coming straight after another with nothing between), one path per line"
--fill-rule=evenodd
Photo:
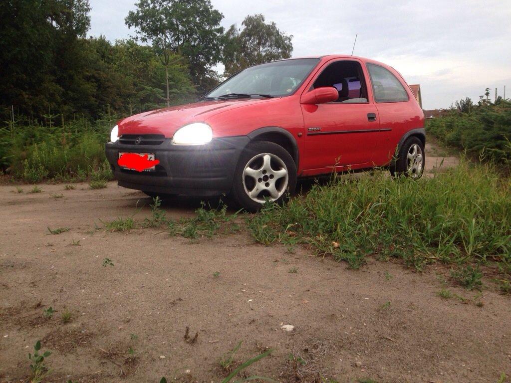
M511 179L491 164L460 165L432 178L383 172L314 185L285 207L271 204L247 225L262 244L306 244L358 269L367 256L430 262L511 262ZM335 245L334 245L335 244Z

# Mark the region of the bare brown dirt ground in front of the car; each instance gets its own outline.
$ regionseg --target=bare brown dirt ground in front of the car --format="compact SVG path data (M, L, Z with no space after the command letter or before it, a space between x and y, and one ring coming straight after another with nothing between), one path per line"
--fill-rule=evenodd
M431 150L428 169L440 162ZM142 220L151 200L114 182L99 190L40 186L38 194L27 193L31 185L22 193L0 186L2 382L28 377L37 340L52 350L45 380L52 382L220 381L220 358L240 341L237 363L274 349L248 374L283 382L318 373L339 382L511 375L509 297L447 282L458 298L442 299L445 266L416 273L370 260L352 271L306 249L254 244L244 231L197 241L162 229L98 231L100 220ZM199 205L183 198L162 207L177 218ZM71 229L52 235L48 227ZM105 258L113 266L103 266ZM50 306L56 312L44 318ZM65 309L72 317L64 324ZM281 329L286 324L294 330ZM194 344L183 339L187 326L192 337L198 331Z

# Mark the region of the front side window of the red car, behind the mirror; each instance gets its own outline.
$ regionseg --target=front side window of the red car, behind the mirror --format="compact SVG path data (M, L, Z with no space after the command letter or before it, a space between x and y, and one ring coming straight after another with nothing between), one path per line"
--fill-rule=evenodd
M316 79L313 88L332 86L339 92L336 103L367 103L362 67L356 61L336 61L327 66Z

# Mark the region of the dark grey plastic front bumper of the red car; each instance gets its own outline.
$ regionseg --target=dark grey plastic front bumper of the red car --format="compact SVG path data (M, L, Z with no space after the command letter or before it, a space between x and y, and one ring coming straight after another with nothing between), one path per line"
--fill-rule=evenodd
M106 158L119 186L145 192L216 196L229 192L240 154L250 141L247 136L214 138L206 145L172 145L165 139L159 145L126 145L108 142ZM154 153L159 160L155 172L121 169L119 152Z

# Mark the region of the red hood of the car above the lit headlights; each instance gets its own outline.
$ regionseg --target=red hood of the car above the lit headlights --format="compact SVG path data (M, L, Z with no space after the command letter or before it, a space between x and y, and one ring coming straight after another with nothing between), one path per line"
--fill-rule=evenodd
M157 109L135 114L118 123L119 135L123 134L163 134L172 137L176 130L192 123L206 123L208 118L257 103L267 103L276 99L237 99L204 101L192 104ZM212 127L214 128L214 127ZM213 129L215 136L215 129Z

